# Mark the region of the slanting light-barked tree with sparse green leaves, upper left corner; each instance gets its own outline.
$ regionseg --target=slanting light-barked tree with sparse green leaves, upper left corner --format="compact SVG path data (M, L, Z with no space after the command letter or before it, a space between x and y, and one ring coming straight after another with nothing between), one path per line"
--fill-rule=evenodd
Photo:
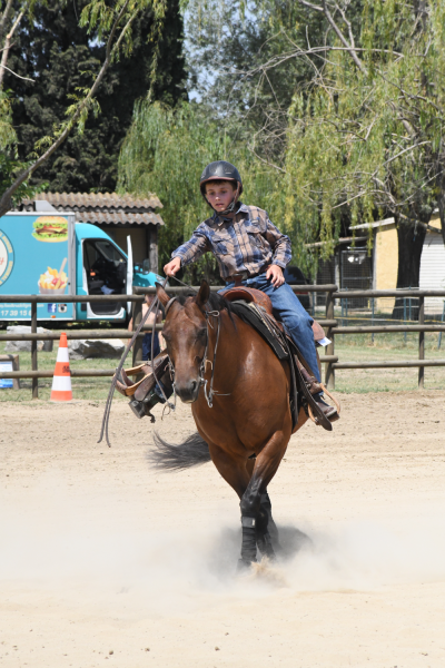
M33 4L23 2L14 7L13 0L8 0L0 18L2 32L4 32L3 27L8 22L12 22L17 27L17 21L20 22L24 16L32 16L32 12L40 7L39 2L34 2ZM152 85L155 84L166 7L167 3L165 0L118 0L110 6L103 2L103 0L92 0L82 8L79 21L80 27L87 29L91 40L90 45L98 43L101 47L102 59L98 66L91 61L87 63L90 69L86 75L86 79L82 79L82 85L77 87L71 95L71 104L66 109L66 119L58 122L56 127L51 128L49 135L42 137L37 143L34 154L31 156L29 164L21 165L19 169L13 170L10 168L12 156L11 154L8 156L9 166L1 175L1 180L6 183L7 187L0 194L0 216L9 210L14 198L18 198L20 187L29 183L36 169L52 156L68 138L72 129L77 128L82 134L89 114L91 111L93 115L99 114L99 106L95 99L97 91L108 68L119 62L121 57L125 58L130 55L132 50L132 27L135 19L144 16L145 12L150 12L152 17L150 30L150 39L154 41L151 81ZM6 40L8 40L8 36ZM8 46L6 40L2 38L0 48L4 49L4 46ZM4 70L6 67L6 62L2 60L1 69ZM88 81L88 84L85 84L85 81ZM7 116L3 115L1 121L4 122L6 119ZM9 148L11 148L10 145ZM17 174L18 171L19 174Z

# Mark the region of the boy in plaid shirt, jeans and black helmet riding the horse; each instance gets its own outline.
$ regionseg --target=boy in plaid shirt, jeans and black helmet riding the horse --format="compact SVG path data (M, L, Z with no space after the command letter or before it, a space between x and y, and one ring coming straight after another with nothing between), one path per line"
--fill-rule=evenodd
M312 330L314 321L283 275L291 257L289 237L275 227L265 210L238 202L243 181L230 163L217 160L207 165L200 178L200 190L214 214L171 254L172 259L164 267L165 274L175 276L181 266L208 250L214 253L226 288L233 287L235 276L241 275L244 285L270 297L274 314L286 325L319 382ZM322 393L315 394L314 399L330 421L338 418L336 409L323 401Z

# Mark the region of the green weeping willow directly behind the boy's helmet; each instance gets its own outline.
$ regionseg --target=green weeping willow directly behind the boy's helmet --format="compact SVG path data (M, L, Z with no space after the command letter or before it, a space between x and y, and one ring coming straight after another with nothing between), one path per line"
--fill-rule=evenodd
M211 118L204 105L181 104L170 108L150 99L135 107L134 121L119 158L119 188L126 193L160 198L166 223L159 235L160 262L189 238L211 210L199 190L204 167L226 159L239 168L245 188L243 199L270 212L279 206L281 195L276 171L258 161L245 144L233 140ZM201 276L219 283L216 263L208 254L187 269L191 282Z

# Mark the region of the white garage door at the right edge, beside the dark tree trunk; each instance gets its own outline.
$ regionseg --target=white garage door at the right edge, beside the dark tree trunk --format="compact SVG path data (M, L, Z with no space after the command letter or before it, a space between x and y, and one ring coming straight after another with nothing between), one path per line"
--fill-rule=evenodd
M421 257L421 289L445 289L445 246L442 235L427 234ZM442 315L444 297L427 297L425 312Z

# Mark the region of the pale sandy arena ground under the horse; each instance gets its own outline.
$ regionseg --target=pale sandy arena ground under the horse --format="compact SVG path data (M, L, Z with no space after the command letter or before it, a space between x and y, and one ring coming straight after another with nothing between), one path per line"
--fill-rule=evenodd
M1 404L0 667L444 667L444 403L344 395L305 426L269 488L284 557L243 578L212 464L150 470L122 403L110 450L102 405Z

